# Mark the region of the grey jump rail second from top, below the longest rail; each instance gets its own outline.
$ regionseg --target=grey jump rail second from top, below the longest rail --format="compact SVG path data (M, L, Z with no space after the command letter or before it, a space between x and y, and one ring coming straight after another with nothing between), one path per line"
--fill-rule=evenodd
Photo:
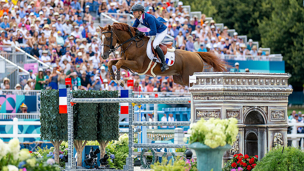
M190 121L133 121L134 126L189 126Z

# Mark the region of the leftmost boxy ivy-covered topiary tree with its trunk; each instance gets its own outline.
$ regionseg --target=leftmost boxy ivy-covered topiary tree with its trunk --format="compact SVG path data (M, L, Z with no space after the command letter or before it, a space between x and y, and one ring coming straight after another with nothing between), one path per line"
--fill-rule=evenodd
M55 162L59 163L59 146L67 140L67 114L59 114L59 91L42 90L40 103L41 139L52 142Z

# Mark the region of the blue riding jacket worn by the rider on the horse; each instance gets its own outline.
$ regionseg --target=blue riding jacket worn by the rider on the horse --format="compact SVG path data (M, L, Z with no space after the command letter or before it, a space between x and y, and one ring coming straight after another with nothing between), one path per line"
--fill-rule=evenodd
M146 26L147 28L150 29L149 32L145 32L146 36L155 36L156 33L161 33L164 30L166 30L166 28L167 28L167 26L164 25L164 23L167 23L167 21L164 20L161 17L158 17L156 19L153 15L148 14L146 12L144 12L142 14L142 17L143 17L143 23L141 23L139 21L139 19L135 19L134 24L133 24L132 27L137 28L139 26L139 24L142 24L143 26Z

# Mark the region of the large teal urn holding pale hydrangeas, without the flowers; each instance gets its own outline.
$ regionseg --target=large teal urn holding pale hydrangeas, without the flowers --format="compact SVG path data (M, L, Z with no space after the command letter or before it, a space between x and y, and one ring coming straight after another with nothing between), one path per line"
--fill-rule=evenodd
M210 148L200 142L193 142L188 147L195 150L197 169L199 171L210 171L212 168L213 171L221 171L223 154L231 149L231 145L229 144L223 147Z

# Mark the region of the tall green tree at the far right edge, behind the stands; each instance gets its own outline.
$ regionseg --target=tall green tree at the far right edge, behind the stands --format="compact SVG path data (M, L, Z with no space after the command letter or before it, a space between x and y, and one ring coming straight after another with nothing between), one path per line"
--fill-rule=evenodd
M288 79L296 90L304 83L304 8L302 0L272 0L274 10L269 19L259 22L261 43L272 53L283 55Z

